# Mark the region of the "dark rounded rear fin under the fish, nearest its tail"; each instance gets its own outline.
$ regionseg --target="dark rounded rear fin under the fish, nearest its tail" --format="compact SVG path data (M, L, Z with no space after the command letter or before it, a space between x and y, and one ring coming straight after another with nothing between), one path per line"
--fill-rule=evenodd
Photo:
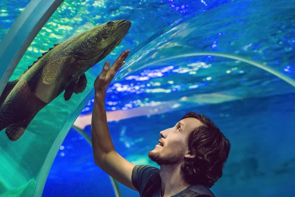
M32 118L26 119L22 122L10 125L9 127L6 128L5 133L7 137L11 141L16 141L18 140L26 131L27 127L29 126L29 123L31 122Z

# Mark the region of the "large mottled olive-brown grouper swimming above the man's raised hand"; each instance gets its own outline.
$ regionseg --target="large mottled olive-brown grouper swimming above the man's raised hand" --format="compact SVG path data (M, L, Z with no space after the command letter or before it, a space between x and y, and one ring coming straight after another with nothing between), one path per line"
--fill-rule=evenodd
M85 72L121 42L129 31L127 20L109 21L55 44L17 80L7 83L0 96L0 131L19 139L34 116L63 91L64 99L82 93Z

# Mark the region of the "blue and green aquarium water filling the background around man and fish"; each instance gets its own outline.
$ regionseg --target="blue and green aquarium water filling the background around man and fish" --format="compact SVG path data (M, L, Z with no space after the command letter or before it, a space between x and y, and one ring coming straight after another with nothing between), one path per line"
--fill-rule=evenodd
M14 21L28 2L17 8L5 3ZM188 111L203 113L233 144L224 176L212 187L217 196L288 196L295 192L294 10L294 0L64 1L11 79L73 34L109 20L130 20L129 33L104 59L114 62L122 50L131 49L107 91L116 150L136 164L155 165L147 154L159 131ZM1 35L9 28L3 24ZM50 103L19 142L12 144L0 132L6 153L1 164L11 164L0 170L0 194L25 190L29 196L35 182L41 188L45 184L53 163L42 196L115 196L84 137L74 129L68 132L81 111L79 118L91 113L91 88L102 65L88 71L83 95L68 102L61 95ZM88 134L89 124L82 128ZM121 185L120 190L123 196L137 195Z

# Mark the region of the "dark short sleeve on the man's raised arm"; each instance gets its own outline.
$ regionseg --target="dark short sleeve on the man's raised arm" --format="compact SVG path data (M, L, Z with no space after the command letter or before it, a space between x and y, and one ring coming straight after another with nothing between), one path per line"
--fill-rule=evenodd
M159 168L149 165L135 165L132 170L132 184L142 194L149 179L159 171Z

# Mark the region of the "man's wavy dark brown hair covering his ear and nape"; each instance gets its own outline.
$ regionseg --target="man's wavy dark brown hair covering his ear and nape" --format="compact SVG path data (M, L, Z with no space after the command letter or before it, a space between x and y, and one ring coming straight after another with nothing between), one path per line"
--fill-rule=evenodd
M181 170L190 185L208 188L222 176L231 144L217 126L206 116L189 112L181 118L196 118L202 126L195 128L187 137L188 150L194 158L184 158Z

